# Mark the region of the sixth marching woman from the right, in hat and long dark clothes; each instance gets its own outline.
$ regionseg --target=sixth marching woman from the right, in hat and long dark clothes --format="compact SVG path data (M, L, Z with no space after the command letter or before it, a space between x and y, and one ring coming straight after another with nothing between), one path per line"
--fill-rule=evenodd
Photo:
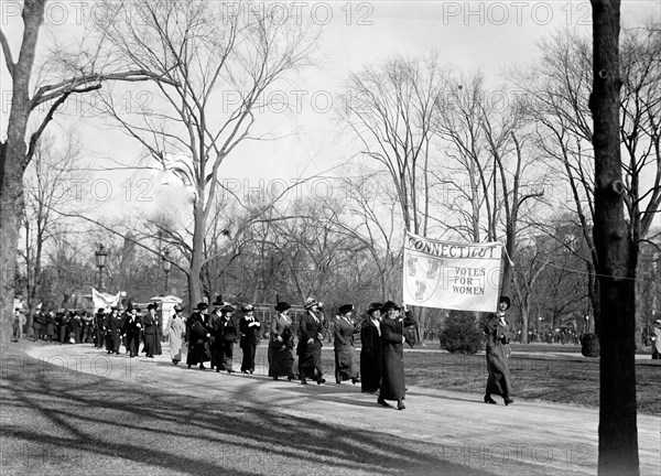
M292 333L292 318L289 316L290 305L279 302L275 305L278 314L271 320L271 336L269 338L269 377L278 380L284 377L289 380L295 378L292 370L294 365L294 335Z

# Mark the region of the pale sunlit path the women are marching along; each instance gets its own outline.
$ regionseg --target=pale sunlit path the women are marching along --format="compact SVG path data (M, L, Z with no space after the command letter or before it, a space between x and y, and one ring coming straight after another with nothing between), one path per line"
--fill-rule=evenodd
M542 474L596 474L597 409L521 399L509 407L488 405L481 394L410 387L407 410L397 411L377 405L375 396L350 383L273 381L264 368L253 376L187 369L173 366L166 347L163 350L155 359L109 356L89 345L42 345L29 354L50 371L57 369L53 366L68 367L163 391L240 400L293 416L315 414L325 423L434 443L449 462L497 474L503 474L498 466L506 462L533 464ZM384 412L388 418L379 419ZM641 474L661 474L661 418L639 414L638 437Z

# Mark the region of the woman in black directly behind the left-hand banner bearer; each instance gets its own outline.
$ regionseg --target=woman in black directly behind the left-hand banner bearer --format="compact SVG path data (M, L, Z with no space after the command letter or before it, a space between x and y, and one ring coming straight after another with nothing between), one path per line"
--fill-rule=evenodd
M376 393L381 387L381 303L371 303L360 325L360 388Z

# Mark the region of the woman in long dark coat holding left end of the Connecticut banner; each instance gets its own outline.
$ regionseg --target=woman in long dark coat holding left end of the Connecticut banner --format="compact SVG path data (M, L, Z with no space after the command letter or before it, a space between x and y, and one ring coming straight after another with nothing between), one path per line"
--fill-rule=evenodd
M400 307L387 301L381 309L381 388L377 402L390 407L386 400L397 400L397 409L404 410L407 387L404 383L404 327L415 325L409 313L400 317Z

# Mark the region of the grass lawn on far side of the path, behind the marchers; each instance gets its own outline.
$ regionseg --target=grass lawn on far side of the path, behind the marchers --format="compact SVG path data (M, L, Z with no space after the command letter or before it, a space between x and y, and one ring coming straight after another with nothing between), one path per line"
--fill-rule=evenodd
M521 346L521 350L528 347ZM552 351L556 351L555 347L563 346L553 346ZM514 348L513 351L516 350ZM258 361L266 363L266 347L258 348ZM328 344L324 347L322 365L326 380L334 382L335 361ZM404 353L404 369L407 383L412 386L481 394L487 385L487 363L484 355L409 351ZM585 407L599 405L598 359L514 355L510 358L510 375L514 397ZM661 361L637 361L636 377L638 411L661 414Z

